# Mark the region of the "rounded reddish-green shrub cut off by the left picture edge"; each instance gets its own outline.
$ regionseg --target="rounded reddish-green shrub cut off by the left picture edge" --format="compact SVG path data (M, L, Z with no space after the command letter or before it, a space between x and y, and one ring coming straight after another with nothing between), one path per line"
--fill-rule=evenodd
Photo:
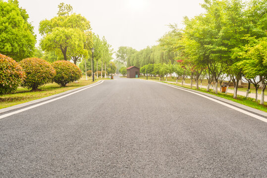
M22 67L12 58L0 54L0 94L15 91L24 78Z

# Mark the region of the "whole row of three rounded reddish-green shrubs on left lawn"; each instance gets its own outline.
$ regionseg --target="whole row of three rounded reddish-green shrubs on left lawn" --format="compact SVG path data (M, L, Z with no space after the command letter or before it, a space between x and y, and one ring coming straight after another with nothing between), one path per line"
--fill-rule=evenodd
M0 94L12 92L21 87L36 90L55 82L63 87L82 77L81 70L69 61L55 61L52 64L39 58L27 58L17 63L0 54Z

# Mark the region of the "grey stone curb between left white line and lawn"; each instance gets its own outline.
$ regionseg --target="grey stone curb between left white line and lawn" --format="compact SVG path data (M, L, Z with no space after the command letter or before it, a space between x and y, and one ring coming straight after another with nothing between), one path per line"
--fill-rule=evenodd
M59 96L62 96L62 95L77 91L77 90L80 90L80 89L84 89L84 88L86 88L88 86L94 86L94 85L100 83L101 81L103 81L103 80L99 80L96 83L90 84L90 85L87 85L87 86L79 87L79 88L76 88L76 89L70 89L70 90L67 90L67 91L64 91L64 92L61 92L61 93L58 93L58 94L53 94L51 96L47 96L47 97L43 97L43 98L40 98L40 99L35 99L35 100L32 100L32 101L29 101L29 102L25 102L25 103L17 104L17 105L14 105L14 106L2 108L2 109L0 109L0 114L3 114L5 112L11 111L11 110L21 109L22 107L30 106L30 105L33 105L33 104L36 104L36 103L40 103L40 102L43 102L43 101L47 101L47 100L50 100L50 99L53 99L53 98L56 98L56 97L59 97Z

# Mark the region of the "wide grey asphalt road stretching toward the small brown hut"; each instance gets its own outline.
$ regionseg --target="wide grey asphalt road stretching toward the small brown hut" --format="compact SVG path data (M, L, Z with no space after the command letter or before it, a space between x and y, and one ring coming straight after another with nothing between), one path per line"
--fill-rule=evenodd
M116 79L0 119L0 178L266 178L267 123Z

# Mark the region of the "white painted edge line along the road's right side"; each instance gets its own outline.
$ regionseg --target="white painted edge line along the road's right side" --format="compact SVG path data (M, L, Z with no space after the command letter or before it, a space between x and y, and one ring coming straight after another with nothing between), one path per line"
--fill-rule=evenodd
M150 81L150 82L154 82L154 81ZM156 82L156 83L159 83L159 84L162 84L162 85L166 85L166 86L169 86L169 87L173 87L173 88L175 88L175 89L181 89L181 88L177 88L177 87L174 87L174 86L170 86L170 85L168 85L168 84L164 84L164 83L161 83L161 82ZM217 103L222 104L222 105L224 105L224 106L226 106L226 107L229 107L229 108L231 108L231 109L234 109L234 110L236 110L236 111L239 111L239 112L241 112L241 113L244 113L244 114L246 114L246 115L249 115L249 116L251 116L251 117L254 117L254 118L256 118L256 119L259 119L259 120L264 121L264 122L267 123L267 119L266 119L266 118L261 117L261 116L258 116L258 115L253 114L253 113L250 113L250 112L245 111L245 110L243 110L243 109L240 109L240 108L238 108L238 107L232 106L232 105L230 105L230 104L224 103L224 102L222 102L222 101L219 101L219 100L217 100L217 99L211 98L211 97L209 97L209 96L206 96L206 95L203 95L203 94L194 92L194 91L190 91L190 90L187 90L187 89L181 89L181 90L188 91L188 92L194 93L194 94L196 94L196 95L205 97L205 98L210 99L210 100L212 100L212 101L214 101L214 102L217 102Z

